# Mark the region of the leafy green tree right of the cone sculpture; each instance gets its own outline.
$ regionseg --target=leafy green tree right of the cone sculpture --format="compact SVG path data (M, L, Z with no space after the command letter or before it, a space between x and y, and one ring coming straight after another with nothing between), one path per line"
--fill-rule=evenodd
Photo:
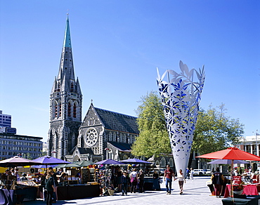
M235 145L244 133L244 125L239 119L226 116L226 108L209 106L207 111L200 110L193 138L193 150L207 154Z

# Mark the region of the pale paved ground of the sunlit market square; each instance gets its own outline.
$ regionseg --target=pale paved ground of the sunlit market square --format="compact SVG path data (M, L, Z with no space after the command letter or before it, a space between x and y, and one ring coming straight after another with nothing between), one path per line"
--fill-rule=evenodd
M115 193L113 196L93 197L86 199L57 201L56 204L192 204L192 205L219 205L222 204L223 198L210 196L207 180L209 176L195 177L194 180L186 180L183 185L184 192L182 195L178 191L178 181L172 184L171 194L166 194L165 184L161 184L162 191L147 191L145 193L128 193L122 196L122 193ZM28 201L25 205L46 204L44 201Z

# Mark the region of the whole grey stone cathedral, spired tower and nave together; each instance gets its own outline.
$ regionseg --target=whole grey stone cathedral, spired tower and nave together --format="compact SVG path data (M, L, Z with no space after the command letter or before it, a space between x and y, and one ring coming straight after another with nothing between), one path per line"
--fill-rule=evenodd
M50 95L48 155L71 162L129 159L137 136L136 117L94 107L92 102L82 121L82 91L74 77L67 17L60 67Z

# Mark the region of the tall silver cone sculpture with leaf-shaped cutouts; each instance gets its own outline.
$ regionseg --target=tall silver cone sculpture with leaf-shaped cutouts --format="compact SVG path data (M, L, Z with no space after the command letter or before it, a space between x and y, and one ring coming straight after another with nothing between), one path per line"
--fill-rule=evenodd
M174 70L167 70L162 76L157 68L157 85L176 172L182 169L186 173L205 75L204 66L197 72L195 69L189 70L180 61L180 68L179 74Z

